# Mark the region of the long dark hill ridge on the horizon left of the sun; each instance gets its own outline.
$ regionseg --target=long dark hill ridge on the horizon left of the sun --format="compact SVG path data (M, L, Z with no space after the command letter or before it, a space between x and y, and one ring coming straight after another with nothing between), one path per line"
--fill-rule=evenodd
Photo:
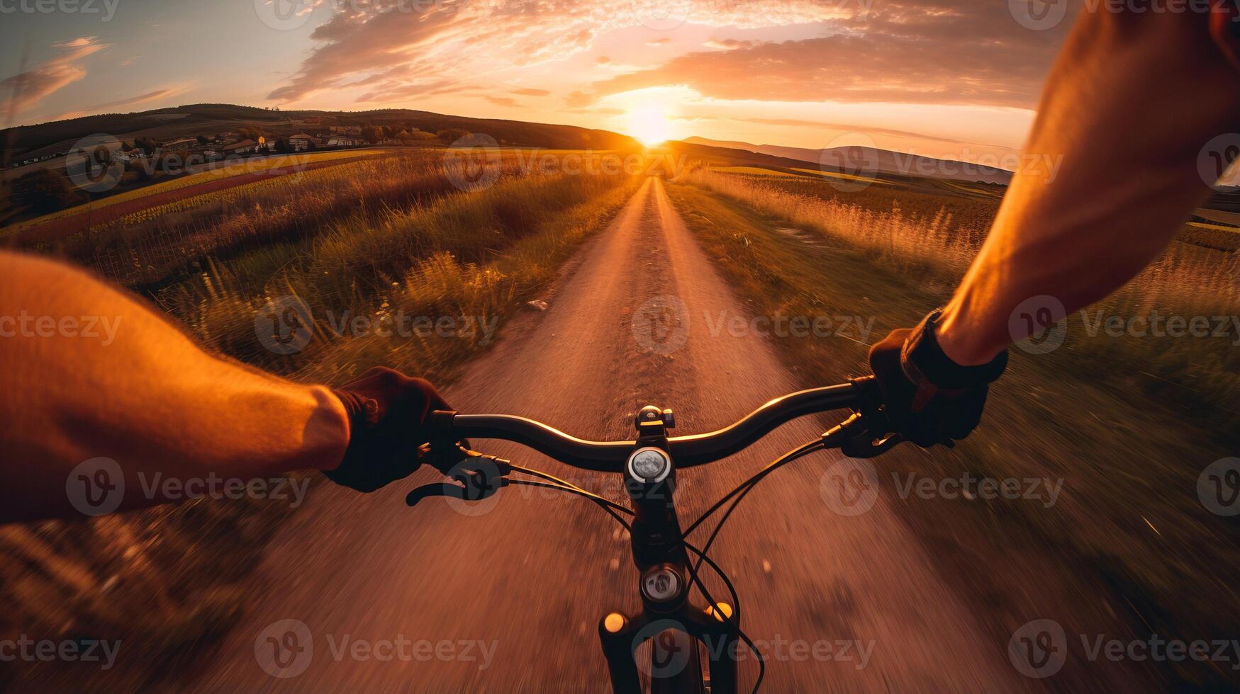
M140 113L87 115L69 120L7 128L0 130L0 149L9 157L37 156L69 149L77 140L97 133L107 133L120 140L131 140L136 136L171 140L211 135L246 126L258 126L273 135L290 135L303 129L315 129L324 125L362 124L402 125L432 133L449 128L463 128L470 133L490 135L502 144L536 147L616 150L641 146L632 138L609 130L520 120L465 118L425 110L268 110L233 104L188 104Z

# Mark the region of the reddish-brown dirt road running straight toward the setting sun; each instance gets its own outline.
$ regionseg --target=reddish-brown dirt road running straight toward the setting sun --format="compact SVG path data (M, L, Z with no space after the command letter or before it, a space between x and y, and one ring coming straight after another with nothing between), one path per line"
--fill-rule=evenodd
M763 337L720 327L732 316L750 317L650 178L580 252L549 310L513 325L448 399L593 439L630 437L632 413L647 403L675 408L678 434L714 429L795 389ZM795 421L734 459L684 471L682 519L826 423ZM485 450L619 498L603 476L511 445ZM1033 687L882 497L857 516L833 511L822 481L837 460L817 454L773 475L712 551L766 654L764 690ZM595 625L639 607L614 520L588 502L523 488L477 507L407 508L405 492L428 478L366 497L321 487L273 544L246 621L203 656L197 689L605 692ZM264 665L299 674L277 678ZM755 670L743 663L743 680Z

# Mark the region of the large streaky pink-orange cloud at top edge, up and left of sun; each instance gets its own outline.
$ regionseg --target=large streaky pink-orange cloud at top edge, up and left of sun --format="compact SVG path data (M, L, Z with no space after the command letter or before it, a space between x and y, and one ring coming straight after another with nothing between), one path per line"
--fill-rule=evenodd
M588 51L613 30L649 24L662 0L611 5L594 0L353 2L310 35L315 47L269 98L303 100L316 92L373 86L363 100L393 102L505 68L559 62ZM693 24L754 29L828 21L852 10L817 2L692 0Z

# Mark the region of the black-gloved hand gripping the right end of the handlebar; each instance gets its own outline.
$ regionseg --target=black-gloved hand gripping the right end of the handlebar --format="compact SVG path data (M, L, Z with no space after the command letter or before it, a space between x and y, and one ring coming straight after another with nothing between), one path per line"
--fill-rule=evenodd
M988 384L1007 367L1007 352L990 363L962 367L935 338L940 311L913 330L895 330L869 351L892 429L921 447L951 446L982 419Z

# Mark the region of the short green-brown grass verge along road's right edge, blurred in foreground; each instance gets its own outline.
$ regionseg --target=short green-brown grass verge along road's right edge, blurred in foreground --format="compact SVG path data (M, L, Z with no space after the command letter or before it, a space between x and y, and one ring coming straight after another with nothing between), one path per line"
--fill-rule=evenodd
M827 248L812 248L777 232L789 221L768 209L687 185L670 185L668 195L756 314L873 318L864 340L873 343L889 330L914 325L955 285L950 275L910 271L920 260L889 261L883 249L866 243L864 232L858 244L841 233ZM1199 270L1200 259L1179 259L1188 266L1177 268L1177 254L1169 255L1154 279L1130 285L1101 307L1128 315L1168 297L1193 300L1194 292L1182 285L1204 279L1185 274ZM1210 288L1198 294L1195 306L1207 311L1219 296ZM773 340L802 384L812 387L868 372L868 346L856 335L846 337ZM905 445L873 461L883 496L962 599L980 605L977 615L999 657L1013 630L1043 617L1055 618L1069 633L1234 638L1240 534L1228 518L1203 507L1197 485L1203 468L1234 455L1240 441L1236 400L1228 399L1235 352L1209 340L1090 337L1074 325L1052 353L1013 348L1009 372L992 389L982 426L970 439L951 450ZM1194 361L1195 385L1211 390L1210 397L1185 397L1178 385L1142 376L1174 373ZM897 477L959 480L965 471L975 478L1063 480L1063 492L1050 507L1028 498L897 494ZM1055 683L1096 688L1111 677L1107 667L1083 667L1069 658ZM1238 684L1226 663L1153 667L1152 675L1167 685Z

